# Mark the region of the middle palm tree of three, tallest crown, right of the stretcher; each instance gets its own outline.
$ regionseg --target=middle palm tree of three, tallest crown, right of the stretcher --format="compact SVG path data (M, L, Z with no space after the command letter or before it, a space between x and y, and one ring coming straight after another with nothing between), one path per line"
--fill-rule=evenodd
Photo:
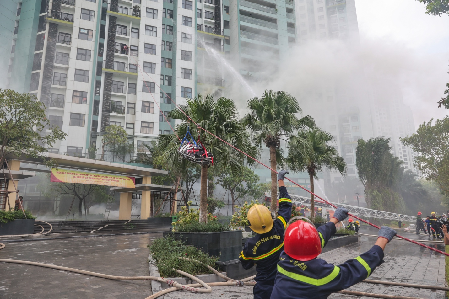
M261 97L254 97L247 103L249 113L242 118L245 128L249 128L254 136L255 145L262 149L262 145L270 150L270 167L276 170L285 162L281 139L295 134L300 129L314 128L315 122L310 115L298 119L296 113L302 113L298 101L285 91L274 92L265 90ZM271 171L271 207L277 208L277 180L276 172Z

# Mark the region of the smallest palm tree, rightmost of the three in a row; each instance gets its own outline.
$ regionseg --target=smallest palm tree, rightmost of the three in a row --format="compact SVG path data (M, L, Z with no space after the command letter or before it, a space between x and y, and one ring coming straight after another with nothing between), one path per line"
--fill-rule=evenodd
M300 131L289 139L287 163L293 171L307 171L310 177L310 191L314 193L313 180L318 179L318 172L326 170L346 173L346 163L339 156L337 149L328 142L334 136L321 128ZM315 216L315 198L310 194L310 218Z

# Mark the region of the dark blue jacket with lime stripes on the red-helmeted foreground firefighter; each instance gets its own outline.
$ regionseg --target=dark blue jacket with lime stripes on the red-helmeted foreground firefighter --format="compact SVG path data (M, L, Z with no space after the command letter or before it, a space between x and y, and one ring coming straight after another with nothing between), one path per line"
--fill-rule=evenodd
M321 247L335 231L332 222L318 228ZM319 258L302 262L282 251L271 299L326 299L331 293L364 280L382 263L383 250L377 245L337 266Z

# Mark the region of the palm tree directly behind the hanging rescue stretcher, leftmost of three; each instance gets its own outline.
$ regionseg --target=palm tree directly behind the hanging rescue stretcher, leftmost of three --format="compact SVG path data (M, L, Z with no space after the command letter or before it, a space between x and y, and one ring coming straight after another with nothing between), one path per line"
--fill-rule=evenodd
M229 167L235 174L242 172L242 166L247 160L248 164L253 164L251 159L229 145L220 141L211 134L204 132L190 122L193 120L202 128L229 142L243 152L256 157L257 147L251 145L250 134L245 130L238 119L238 111L234 102L225 97L220 97L217 101L211 95L203 98L201 95L194 99L187 99L187 106L180 106L172 110L168 117L181 119L184 122L176 125L175 133L182 138L189 131L193 137L201 140L207 151L214 156L214 166L218 168ZM180 159L179 167L186 167L187 161L182 159L177 153L180 142L176 135L162 135L160 142L167 149L168 156L175 156ZM201 189L200 189L200 222L207 222L207 172L208 166L201 166Z

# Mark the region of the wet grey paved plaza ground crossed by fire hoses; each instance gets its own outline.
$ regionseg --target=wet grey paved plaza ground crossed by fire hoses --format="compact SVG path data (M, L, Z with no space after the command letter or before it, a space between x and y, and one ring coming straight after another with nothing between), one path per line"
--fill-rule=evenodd
M365 233L374 234L375 231ZM405 237L416 236L403 234ZM162 237L162 234L9 242L0 251L0 258L56 264L110 275L146 276L149 275L149 251L146 245L157 237ZM425 236L419 237L428 240ZM323 253L320 257L334 264L342 263L368 250L374 244L375 237L361 236L359 240L353 245ZM444 250L442 245L437 248ZM445 259L433 251L405 241L392 241L387 245L384 260L385 263L372 273L370 279L444 286ZM445 298L444 291L366 283L348 290L418 298ZM149 295L149 281L112 281L42 267L0 263L1 299L145 299ZM165 295L164 298L252 299L252 288L214 287L212 294L203 295L178 291ZM333 294L329 298L360 297Z

